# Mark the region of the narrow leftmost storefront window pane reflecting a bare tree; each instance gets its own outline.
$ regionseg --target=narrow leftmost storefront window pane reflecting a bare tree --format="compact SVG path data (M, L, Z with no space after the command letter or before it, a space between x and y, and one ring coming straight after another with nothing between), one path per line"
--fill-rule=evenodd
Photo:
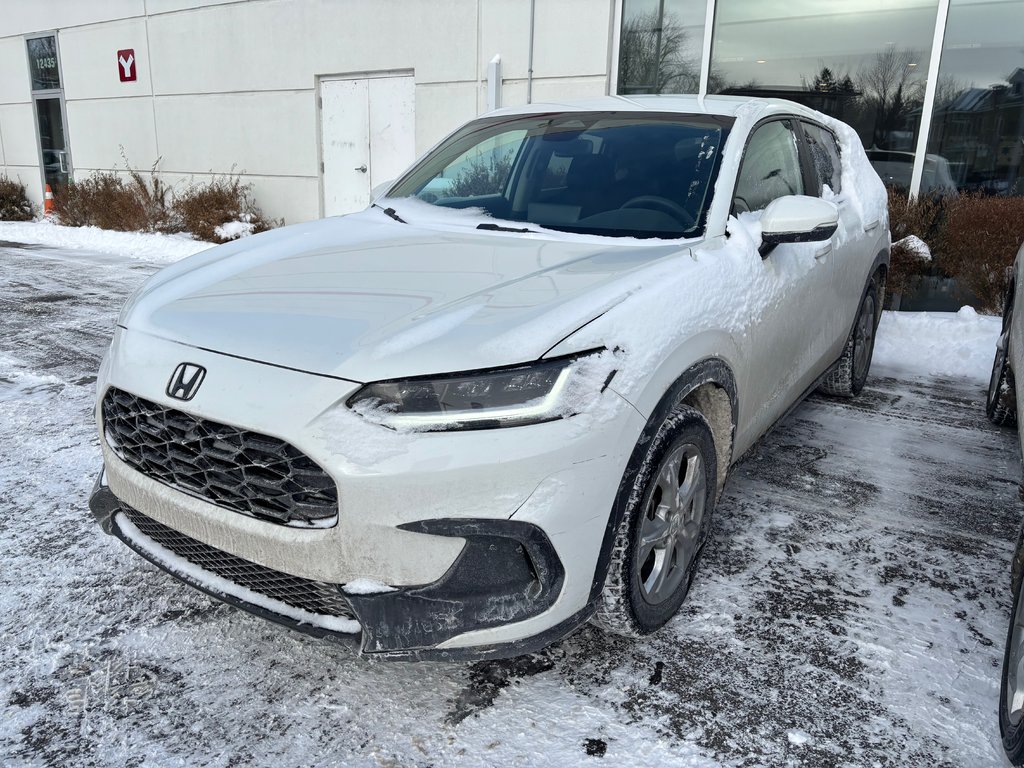
M707 0L624 0L618 92L696 93Z

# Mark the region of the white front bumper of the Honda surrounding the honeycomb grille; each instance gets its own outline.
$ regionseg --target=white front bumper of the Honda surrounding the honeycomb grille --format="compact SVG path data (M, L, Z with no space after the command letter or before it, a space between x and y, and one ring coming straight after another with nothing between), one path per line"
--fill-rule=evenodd
M183 359L208 371L187 406L164 393ZM286 440L333 477L339 503L330 527L296 528L182 493L115 455L97 407L109 488L91 506L110 532L140 551L118 525L123 505L289 577L335 589L362 580L388 585L394 592L347 599L362 626L364 650L390 656L512 655L586 621L595 582L603 579L599 557L609 511L645 423L609 389L601 395L607 399L600 419L396 434L343 407L355 383L124 330L100 370L100 401L110 387ZM152 551L142 554L175 572ZM190 583L253 610L241 604L252 600L200 581ZM268 617L303 631L313 626Z

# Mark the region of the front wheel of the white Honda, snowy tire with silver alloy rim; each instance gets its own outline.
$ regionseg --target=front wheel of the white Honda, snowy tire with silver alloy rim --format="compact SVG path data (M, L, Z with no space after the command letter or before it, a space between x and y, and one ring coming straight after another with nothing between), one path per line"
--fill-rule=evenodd
M593 617L627 637L649 635L679 610L711 531L717 457L699 411L679 406L666 417L638 470L620 485L625 513ZM669 501L672 490L675 504ZM616 506L623 499L616 499ZM647 541L641 542L641 537Z

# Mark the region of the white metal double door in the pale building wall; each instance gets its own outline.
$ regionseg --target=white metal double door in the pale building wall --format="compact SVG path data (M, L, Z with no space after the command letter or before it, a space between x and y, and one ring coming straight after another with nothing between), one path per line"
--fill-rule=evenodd
M415 97L412 76L321 82L324 215L366 208L415 160Z

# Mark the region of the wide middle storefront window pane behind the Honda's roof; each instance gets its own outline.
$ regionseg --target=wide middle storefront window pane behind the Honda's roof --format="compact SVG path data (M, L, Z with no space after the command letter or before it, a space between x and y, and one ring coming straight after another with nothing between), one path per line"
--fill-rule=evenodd
M888 180L906 186L937 7L937 0L719 0L708 90L788 98L839 118L857 130L873 163L884 157L895 171Z

